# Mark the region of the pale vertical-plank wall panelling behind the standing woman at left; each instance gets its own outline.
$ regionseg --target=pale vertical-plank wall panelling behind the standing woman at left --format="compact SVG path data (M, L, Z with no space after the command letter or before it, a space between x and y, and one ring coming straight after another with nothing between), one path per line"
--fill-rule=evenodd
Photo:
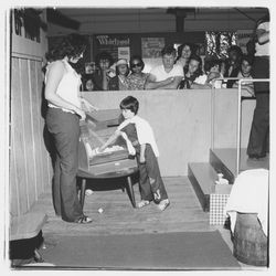
M43 137L41 61L12 57L10 212L29 211L51 184L52 164Z

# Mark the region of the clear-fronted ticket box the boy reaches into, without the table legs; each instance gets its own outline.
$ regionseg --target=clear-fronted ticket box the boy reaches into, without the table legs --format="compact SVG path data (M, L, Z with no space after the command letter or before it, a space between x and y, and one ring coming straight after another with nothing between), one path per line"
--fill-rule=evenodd
M79 169L97 176L137 167L136 160L129 159L124 139L118 138L109 151L96 151L117 128L119 115L117 109L98 110L87 114L86 121L81 123Z

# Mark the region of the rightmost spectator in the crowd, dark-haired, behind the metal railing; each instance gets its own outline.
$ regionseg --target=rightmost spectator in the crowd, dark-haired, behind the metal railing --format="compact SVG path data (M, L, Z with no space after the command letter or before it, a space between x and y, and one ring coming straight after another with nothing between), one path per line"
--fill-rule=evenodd
M242 65L241 71L237 74L238 79L253 79L252 77L252 66L253 66L253 57L248 55L242 56ZM238 81L233 84L233 87L238 87ZM242 82L242 89L247 91L252 96L254 96L254 84L253 82Z

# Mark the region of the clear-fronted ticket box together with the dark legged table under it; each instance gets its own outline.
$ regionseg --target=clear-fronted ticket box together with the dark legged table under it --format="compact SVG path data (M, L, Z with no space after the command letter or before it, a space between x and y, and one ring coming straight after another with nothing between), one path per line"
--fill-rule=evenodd
M86 120L81 121L81 138L78 147L78 172L82 179L79 201L84 205L86 179L126 178L129 199L132 206L135 193L131 176L138 172L135 157L129 157L126 141L118 138L103 152L98 148L114 134L119 125L120 110L107 109L86 114Z

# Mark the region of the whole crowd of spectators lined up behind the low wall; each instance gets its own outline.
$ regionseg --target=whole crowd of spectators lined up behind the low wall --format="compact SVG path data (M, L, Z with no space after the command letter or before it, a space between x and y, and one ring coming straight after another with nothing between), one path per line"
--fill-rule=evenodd
M246 53L237 45L230 46L227 59L203 60L192 43L183 43L178 49L166 45L161 51L162 64L145 73L145 62L139 55L131 56L129 62L120 59L114 63L109 53L102 52L96 57L96 71L83 76L83 91L237 87L238 79L252 78L254 54L252 41L248 42ZM252 82L244 82L242 86L254 95Z

